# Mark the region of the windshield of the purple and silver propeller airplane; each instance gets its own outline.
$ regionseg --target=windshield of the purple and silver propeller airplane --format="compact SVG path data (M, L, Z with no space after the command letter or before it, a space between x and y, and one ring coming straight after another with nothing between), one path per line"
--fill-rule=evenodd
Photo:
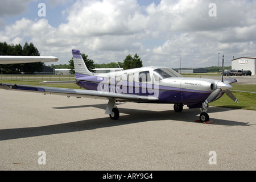
M163 80L170 77L182 77L179 73L170 68L154 69L154 77L156 81Z

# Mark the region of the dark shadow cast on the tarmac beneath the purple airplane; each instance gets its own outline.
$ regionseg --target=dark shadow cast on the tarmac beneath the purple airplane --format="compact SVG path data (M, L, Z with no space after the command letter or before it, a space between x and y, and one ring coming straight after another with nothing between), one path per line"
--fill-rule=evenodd
M106 104L54 107L54 108L55 109L71 109L71 108L92 107L92 106L105 110ZM143 110L143 109L142 110L124 109L120 107L119 108L120 114L127 114L127 115L120 115L118 120L112 120L109 118L108 115L106 115L106 117L104 118L61 123L57 125L26 127L26 128L17 128L17 129L2 129L0 130L0 140L71 133L71 132L77 132L77 131L94 130L98 128L121 126L121 125L128 125L131 123L140 123L140 122L147 122L147 121L175 120L175 121L181 121L181 122L195 122L196 119L199 119L197 115L200 114L200 110L198 111L197 110L184 109L182 113L176 113L174 110L152 111L152 110ZM213 113L213 112L220 112L220 111L231 110L231 109L221 108L221 107L210 107L209 110L210 110L209 112L209 115L210 115L210 113ZM210 118L210 120L214 121L214 123L211 123L210 125L252 126L252 125L249 125L248 122L237 122L237 121L229 121L229 120L214 119L214 118ZM199 124L199 123L195 122L195 124ZM200 122L200 124L202 123Z

